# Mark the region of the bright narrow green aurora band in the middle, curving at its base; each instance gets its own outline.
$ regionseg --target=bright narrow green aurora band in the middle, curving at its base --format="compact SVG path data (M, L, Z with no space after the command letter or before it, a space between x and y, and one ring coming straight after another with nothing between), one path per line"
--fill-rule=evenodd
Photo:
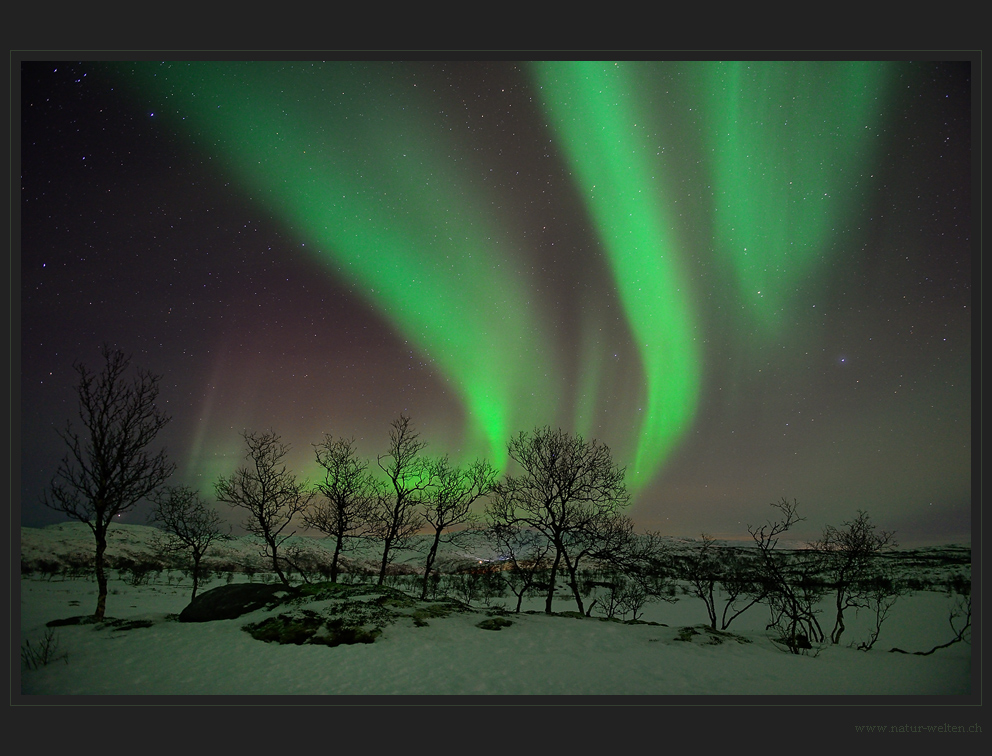
M656 475L690 426L702 364L685 250L667 217L664 165L642 139L647 124L626 66L533 65L546 112L574 170L638 348L643 407L627 481Z

